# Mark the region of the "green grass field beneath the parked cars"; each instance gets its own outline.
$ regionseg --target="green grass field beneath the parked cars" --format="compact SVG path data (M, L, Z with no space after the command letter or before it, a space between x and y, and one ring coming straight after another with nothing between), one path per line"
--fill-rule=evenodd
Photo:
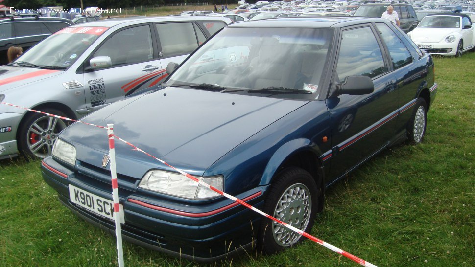
M435 58L423 144L384 151L327 191L311 234L377 266L475 266L475 53ZM124 243L126 266L199 266ZM211 266L357 266L305 241ZM115 238L63 207L40 161L0 161L0 266L117 266Z

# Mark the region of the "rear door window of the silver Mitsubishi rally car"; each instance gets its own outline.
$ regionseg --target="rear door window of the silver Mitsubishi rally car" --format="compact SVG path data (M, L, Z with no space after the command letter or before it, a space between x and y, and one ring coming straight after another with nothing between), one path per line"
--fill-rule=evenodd
M190 54L198 47L193 24L163 23L156 24L163 57Z

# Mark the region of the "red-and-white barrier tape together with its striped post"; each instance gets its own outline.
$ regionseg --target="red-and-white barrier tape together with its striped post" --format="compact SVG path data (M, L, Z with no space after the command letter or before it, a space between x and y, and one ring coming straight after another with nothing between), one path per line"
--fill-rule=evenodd
M114 138L113 138L113 137L115 137L115 138L117 138L119 141L122 141L122 142L124 142L125 144L131 146L134 150L137 150L137 151L139 151L139 152L142 152L143 154L145 154L145 155L147 155L147 156L150 156L150 157L152 157L152 158L154 158L154 159L160 161L162 164L165 164L166 166L168 166L168 167L170 167L170 168L176 170L176 171L179 172L180 174L182 174L182 175L184 175L184 176L186 176L186 177L192 179L193 181L195 181L195 182L197 182L197 183L199 183L199 184L205 186L206 188L209 188L209 189L213 190L214 192L216 192L216 193L218 193L218 194L220 194L220 195L222 195L222 196L224 196L224 197L226 197L226 198L228 198L228 199L230 199L230 200L233 200L233 201L235 201L235 202L237 202L237 203L239 203L239 204L245 206L245 207L248 208L248 209L251 209L251 210L257 212L257 213L261 214L262 216L265 216L265 217L267 217L267 218L269 218L269 219L271 219L271 220L273 220L273 221L275 221L275 222L277 222L277 223L280 223L280 224L284 225L286 228L290 229L291 231L294 231L294 232L296 232L296 233L298 233L298 234L301 234L301 235L305 236L306 238L308 238L308 239L310 239L310 240L312 240L312 241L314 241L314 242L316 242L316 243L318 243L318 244L320 244L320 245L323 245L324 247L326 247L326 248L328 248L328 249L330 249L330 250L332 250L332 251L334 251L334 252L336 252L336 253L338 253L338 254L341 254L341 255L347 257L348 259L350 259L350 260L352 260L352 261L354 261L354 262L356 262L356 263L358 263L358 264L360 264L360 265L362 265L362 266L366 266L366 267L377 267L377 266L374 265L374 264L371 264L371 263L369 263L369 262L367 262L367 261L365 261L365 260L363 260L363 259L360 259L360 258L356 257L355 255L350 254L350 253L348 253L348 252L346 252L346 251L344 251L344 250L342 250L342 249L340 249L340 248L338 248L338 247L336 247L336 246L330 245L330 244L326 243L326 242L323 241L323 240L320 240L320 239L318 239L318 238L316 238L316 237L314 237L314 236L312 236L312 235L310 235L310 234L308 234L308 233L306 233L306 232L304 232L304 231L302 231L302 230L299 230L299 229L293 227L292 225L289 225L289 224L287 224L287 223L284 223L284 222L282 222L282 221L280 221L280 220L274 218L273 216L268 215L267 213L265 213L265 212L263 212L263 211L261 211L261 210L255 208L255 207L253 207L253 206L247 204L246 202L244 202L244 201L242 201L242 200L240 200L240 199L238 199L238 198L236 198L236 197L234 197L234 196L231 196L231 195L229 195L229 194L226 194L226 193L224 193L223 191L221 191L221 190L219 190L219 189L217 189L217 188L214 188L213 186L211 186L211 185L209 185L209 184L207 184L207 183L205 183L205 182L203 182L203 181L200 181L198 178L196 178L196 177L194 177L194 176L192 176L192 175L190 175L190 174L188 174L188 173L186 173L186 172L184 172L184 171L182 171L182 170L180 170L180 169L178 169L178 168L175 168L175 167L171 166L170 164L166 163L165 161L163 161L163 160L160 159L160 158L157 158L157 157L155 157L155 156L150 155L149 153L143 151L142 149L136 147L135 145L133 145L133 144L127 142L126 140L120 138L119 136L113 134L113 132L112 132L112 134L111 134L111 133L109 132L109 131L112 131L112 130L113 130L111 124L108 124L109 127L98 126L98 125L95 125L95 124L91 124L91 123L87 123L87 122L83 122L83 121L79 121L79 120L73 120L73 119L69 119L69 118L62 117L62 116L57 116L57 115L49 114L49 113L46 113L46 112L41 112L41 111L36 111L36 110L31 110L31 109L23 108L23 107L20 107L20 106L17 106L17 105L13 105L13 104L10 104L10 103L0 102L0 104L6 104L6 105L9 105L9 106L17 107L17 108L24 109L24 110L27 110L27 111L32 111L32 112L36 112L36 113L42 113L42 114L45 114L45 115L48 115L48 116L52 116L52 117L55 117L55 118L60 118L60 119L68 120L68 121L75 121L75 122L83 123L83 124L86 124L86 125L99 127L99 128L102 128L102 129L107 129L107 130L108 130L108 135L109 135L109 148L111 148L111 146L112 146L112 149L110 149L110 151L111 151L110 153L111 153L112 155L109 155L109 156L111 157L111 171L112 171L112 158L113 158L113 156L114 156L114 158L115 158ZM115 161L114 161L114 168L115 168ZM115 172L112 172L112 173L115 173ZM114 178L112 178L112 179L113 179L113 187L114 187ZM115 178L115 179L116 179L116 193L117 193L117 174L116 174L116 178ZM114 193L114 189L113 189L113 193ZM117 196L117 198L118 198L118 196ZM117 202L117 203L118 203L118 202ZM119 203L118 203L117 206L118 206L118 210L119 210ZM114 200L114 210L115 210L115 209L116 209L116 200ZM118 215L119 215L119 213L115 213L115 215L114 215L114 216L117 216L117 217L115 217L115 221L116 221L116 232L117 232L117 223L119 222L119 217L118 217ZM119 223L119 227L120 227L120 223ZM119 235L118 235L118 236L119 236ZM119 243L119 242L118 242L118 243ZM122 244L122 242L120 242L120 246L121 246L121 244ZM118 244L118 251L119 251L119 244ZM121 255L121 253L120 253L119 255Z

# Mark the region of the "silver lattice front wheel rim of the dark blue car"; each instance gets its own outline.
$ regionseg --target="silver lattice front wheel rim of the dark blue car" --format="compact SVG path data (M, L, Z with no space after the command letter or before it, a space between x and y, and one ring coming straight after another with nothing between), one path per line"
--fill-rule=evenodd
M311 203L312 198L307 186L301 183L293 184L277 201L274 217L304 231L309 224ZM295 244L302 236L277 222L272 223L272 230L275 242L284 247Z

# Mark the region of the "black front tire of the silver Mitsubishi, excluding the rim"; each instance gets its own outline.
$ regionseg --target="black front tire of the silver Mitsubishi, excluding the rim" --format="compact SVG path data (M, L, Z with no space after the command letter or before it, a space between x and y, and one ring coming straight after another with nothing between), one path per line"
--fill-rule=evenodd
M53 115L58 115L62 117L66 117L66 115L58 110L55 109L43 109L41 110L42 112L53 114ZM28 131L33 124L34 121L41 117L46 117L48 115L41 114L41 113L33 113L30 112L30 114L26 115L26 118L20 125L20 128L18 129L18 135L17 135L17 144L18 144L18 150L20 151L21 154L23 154L27 158L37 158L29 149L28 146L28 141L26 136L28 134ZM66 123L66 122L65 122ZM68 126L68 123L66 123L66 126Z

